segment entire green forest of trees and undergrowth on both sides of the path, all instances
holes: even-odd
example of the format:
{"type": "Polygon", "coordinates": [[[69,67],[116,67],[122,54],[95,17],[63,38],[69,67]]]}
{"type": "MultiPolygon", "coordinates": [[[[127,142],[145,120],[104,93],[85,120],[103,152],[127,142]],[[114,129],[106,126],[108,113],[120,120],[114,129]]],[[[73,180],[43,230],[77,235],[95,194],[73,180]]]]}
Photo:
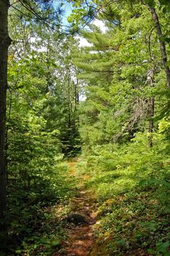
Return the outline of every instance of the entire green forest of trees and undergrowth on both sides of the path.
{"type": "Polygon", "coordinates": [[[69,23],[62,1],[10,4],[0,255],[61,248],[54,215],[69,211],[77,157],[97,197],[98,255],[168,256],[169,1],[68,1],[69,23]]]}

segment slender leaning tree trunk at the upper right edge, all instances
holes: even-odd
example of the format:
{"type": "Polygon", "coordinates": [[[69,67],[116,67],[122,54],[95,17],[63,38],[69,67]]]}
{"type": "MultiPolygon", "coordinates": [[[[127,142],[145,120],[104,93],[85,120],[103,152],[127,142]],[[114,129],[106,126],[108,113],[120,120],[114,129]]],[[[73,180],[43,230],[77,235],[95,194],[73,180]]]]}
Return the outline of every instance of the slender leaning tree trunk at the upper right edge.
{"type": "Polygon", "coordinates": [[[167,61],[166,44],[163,41],[161,25],[160,25],[158,14],[157,14],[155,8],[149,6],[149,10],[152,14],[152,20],[155,23],[155,29],[158,34],[158,39],[159,39],[160,48],[161,48],[162,63],[163,63],[163,67],[166,72],[166,82],[167,82],[167,86],[170,88],[170,69],[169,69],[169,65],[168,65],[168,61],[167,61]]]}

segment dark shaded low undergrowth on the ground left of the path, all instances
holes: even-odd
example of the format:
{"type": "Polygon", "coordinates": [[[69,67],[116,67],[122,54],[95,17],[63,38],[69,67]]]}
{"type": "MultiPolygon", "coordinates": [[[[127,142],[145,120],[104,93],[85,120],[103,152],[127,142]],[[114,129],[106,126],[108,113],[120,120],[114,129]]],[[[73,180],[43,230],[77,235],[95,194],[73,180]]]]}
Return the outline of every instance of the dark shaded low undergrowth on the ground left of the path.
{"type": "Polygon", "coordinates": [[[1,256],[53,255],[66,238],[61,219],[69,212],[74,181],[62,161],[52,176],[39,180],[28,190],[16,184],[10,193],[8,244],[1,244],[1,256]],[[62,214],[61,214],[62,213],[62,214]]]}

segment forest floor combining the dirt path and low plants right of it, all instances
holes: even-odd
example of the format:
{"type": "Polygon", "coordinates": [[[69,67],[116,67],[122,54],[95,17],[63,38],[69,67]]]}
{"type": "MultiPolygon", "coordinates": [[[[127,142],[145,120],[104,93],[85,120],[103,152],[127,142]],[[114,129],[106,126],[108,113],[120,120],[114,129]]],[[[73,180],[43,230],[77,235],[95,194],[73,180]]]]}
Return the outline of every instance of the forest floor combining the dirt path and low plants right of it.
{"type": "Polygon", "coordinates": [[[88,169],[83,159],[66,164],[72,193],[55,207],[61,238],[53,256],[169,255],[169,211],[158,187],[139,186],[146,173],[101,171],[96,162],[88,169]]]}

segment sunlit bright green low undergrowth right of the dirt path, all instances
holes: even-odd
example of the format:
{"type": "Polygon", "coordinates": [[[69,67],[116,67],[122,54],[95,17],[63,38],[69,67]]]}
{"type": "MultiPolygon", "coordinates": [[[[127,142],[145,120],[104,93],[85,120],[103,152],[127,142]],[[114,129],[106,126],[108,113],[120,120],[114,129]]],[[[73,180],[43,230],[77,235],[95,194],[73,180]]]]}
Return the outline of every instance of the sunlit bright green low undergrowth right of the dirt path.
{"type": "Polygon", "coordinates": [[[153,141],[139,134],[124,146],[95,146],[79,164],[98,197],[94,232],[105,255],[170,255],[169,150],[161,135],[153,141]]]}

